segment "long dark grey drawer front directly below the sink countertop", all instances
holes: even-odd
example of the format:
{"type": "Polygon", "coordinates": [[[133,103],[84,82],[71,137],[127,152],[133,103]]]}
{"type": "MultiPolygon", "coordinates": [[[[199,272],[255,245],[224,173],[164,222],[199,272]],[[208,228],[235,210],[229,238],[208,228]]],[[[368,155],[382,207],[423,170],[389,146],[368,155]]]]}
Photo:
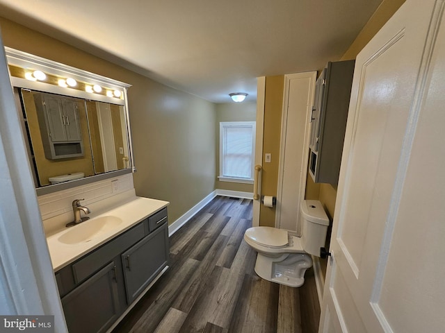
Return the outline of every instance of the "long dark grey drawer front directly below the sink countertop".
{"type": "Polygon", "coordinates": [[[127,232],[124,232],[124,234],[97,248],[97,250],[88,256],[80,259],[72,265],[74,282],[76,284],[82,282],[99,268],[102,268],[102,266],[110,262],[114,257],[120,255],[123,250],[126,250],[140,239],[143,239],[143,237],[144,224],[139,223],[127,232]]]}

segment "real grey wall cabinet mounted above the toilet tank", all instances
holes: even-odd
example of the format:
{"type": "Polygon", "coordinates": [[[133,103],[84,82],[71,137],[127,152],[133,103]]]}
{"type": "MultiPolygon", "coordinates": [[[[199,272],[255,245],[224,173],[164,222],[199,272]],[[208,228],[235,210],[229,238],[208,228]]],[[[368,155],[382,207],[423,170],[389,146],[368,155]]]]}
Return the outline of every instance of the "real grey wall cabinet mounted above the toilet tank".
{"type": "Polygon", "coordinates": [[[355,60],[328,62],[316,81],[309,142],[314,182],[337,186],[355,60]]]}

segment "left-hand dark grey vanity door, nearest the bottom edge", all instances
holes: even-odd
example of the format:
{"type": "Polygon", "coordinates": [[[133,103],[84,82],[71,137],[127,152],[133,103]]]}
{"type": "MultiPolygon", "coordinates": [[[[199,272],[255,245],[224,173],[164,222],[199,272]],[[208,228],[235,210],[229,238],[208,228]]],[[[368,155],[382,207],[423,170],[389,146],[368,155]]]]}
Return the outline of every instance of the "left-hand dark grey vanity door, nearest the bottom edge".
{"type": "Polygon", "coordinates": [[[62,298],[70,333],[99,333],[120,316],[116,266],[111,262],[62,298]]]}

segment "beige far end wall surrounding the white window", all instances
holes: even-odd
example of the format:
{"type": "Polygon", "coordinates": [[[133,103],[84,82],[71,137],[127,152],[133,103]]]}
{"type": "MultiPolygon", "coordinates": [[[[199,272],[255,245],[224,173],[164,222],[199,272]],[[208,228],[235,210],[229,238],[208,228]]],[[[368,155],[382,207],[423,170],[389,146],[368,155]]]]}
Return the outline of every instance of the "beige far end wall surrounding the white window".
{"type": "MultiPolygon", "coordinates": [[[[244,101],[243,103],[218,103],[216,104],[216,176],[220,172],[220,122],[221,121],[255,121],[257,117],[257,102],[244,101]]],[[[253,193],[253,184],[241,184],[238,182],[220,182],[215,180],[216,189],[229,191],[241,191],[253,193]]]]}

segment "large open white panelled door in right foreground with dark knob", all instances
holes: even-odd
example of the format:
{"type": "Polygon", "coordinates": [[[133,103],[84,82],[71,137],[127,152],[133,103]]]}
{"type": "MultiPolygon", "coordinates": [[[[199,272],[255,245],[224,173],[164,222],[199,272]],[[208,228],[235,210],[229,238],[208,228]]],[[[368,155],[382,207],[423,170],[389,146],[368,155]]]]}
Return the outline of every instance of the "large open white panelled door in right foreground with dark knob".
{"type": "Polygon", "coordinates": [[[357,57],[319,332],[445,331],[444,22],[407,0],[357,57]]]}

